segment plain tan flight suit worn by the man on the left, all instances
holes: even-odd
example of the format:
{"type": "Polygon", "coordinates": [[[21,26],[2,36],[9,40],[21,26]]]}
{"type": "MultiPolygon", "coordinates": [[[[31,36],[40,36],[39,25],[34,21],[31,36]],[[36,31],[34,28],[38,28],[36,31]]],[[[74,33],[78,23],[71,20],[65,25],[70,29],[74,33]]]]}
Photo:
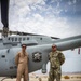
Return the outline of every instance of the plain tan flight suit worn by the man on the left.
{"type": "Polygon", "coordinates": [[[22,75],[24,77],[24,81],[28,81],[28,54],[26,52],[19,52],[15,57],[15,63],[17,65],[16,81],[21,81],[22,75]]]}

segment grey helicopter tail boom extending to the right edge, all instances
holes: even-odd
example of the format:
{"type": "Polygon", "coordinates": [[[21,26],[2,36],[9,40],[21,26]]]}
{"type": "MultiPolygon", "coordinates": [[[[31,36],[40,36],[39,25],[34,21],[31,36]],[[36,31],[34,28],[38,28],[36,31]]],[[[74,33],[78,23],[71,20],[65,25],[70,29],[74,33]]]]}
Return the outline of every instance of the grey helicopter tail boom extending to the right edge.
{"type": "Polygon", "coordinates": [[[56,44],[57,49],[60,51],[80,48],[81,46],[81,36],[59,39],[53,43],[56,44]]]}

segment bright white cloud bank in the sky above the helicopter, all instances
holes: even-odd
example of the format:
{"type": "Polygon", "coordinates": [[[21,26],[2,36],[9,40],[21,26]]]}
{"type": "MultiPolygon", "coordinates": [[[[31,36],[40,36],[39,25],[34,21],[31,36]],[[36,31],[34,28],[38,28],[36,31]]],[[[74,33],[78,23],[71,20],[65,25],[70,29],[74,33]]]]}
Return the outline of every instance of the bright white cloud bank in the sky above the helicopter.
{"type": "MultiPolygon", "coordinates": [[[[42,6],[41,9],[43,10],[42,6]]],[[[44,9],[44,11],[49,13],[50,9],[52,8],[49,8],[48,10],[44,9]]],[[[27,31],[27,32],[41,33],[41,35],[48,35],[48,36],[55,35],[56,37],[60,37],[59,35],[62,33],[62,31],[65,31],[65,29],[68,28],[68,25],[65,18],[55,17],[51,13],[50,15],[48,14],[46,16],[43,16],[39,14],[38,12],[30,14],[31,16],[27,16],[27,14],[30,12],[31,10],[28,5],[24,5],[23,8],[16,9],[16,11],[14,11],[14,14],[12,13],[13,16],[11,14],[12,17],[10,18],[10,27],[11,27],[10,29],[11,30],[16,29],[16,30],[25,31],[25,32],[27,31]],[[58,30],[59,28],[60,28],[60,31],[58,30]],[[56,33],[56,31],[59,31],[59,32],[56,33]]]]}

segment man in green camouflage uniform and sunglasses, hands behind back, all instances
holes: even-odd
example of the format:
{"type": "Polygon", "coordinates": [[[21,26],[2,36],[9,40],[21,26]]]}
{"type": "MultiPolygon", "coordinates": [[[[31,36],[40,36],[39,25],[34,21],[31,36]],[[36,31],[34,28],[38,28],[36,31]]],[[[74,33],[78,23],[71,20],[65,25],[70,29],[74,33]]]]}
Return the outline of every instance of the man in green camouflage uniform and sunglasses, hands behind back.
{"type": "Polygon", "coordinates": [[[60,51],[57,51],[56,45],[52,45],[52,52],[49,53],[50,58],[50,72],[49,81],[60,81],[62,69],[60,66],[65,62],[65,56],[60,51]]]}

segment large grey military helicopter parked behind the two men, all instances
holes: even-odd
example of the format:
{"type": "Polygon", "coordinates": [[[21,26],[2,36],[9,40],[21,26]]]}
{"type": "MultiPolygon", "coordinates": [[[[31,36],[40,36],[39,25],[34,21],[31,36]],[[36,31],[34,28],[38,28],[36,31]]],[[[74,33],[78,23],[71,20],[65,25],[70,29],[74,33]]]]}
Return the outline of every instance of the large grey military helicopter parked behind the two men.
{"type": "Polygon", "coordinates": [[[15,65],[15,56],[21,51],[21,45],[27,45],[26,51],[29,55],[29,73],[42,69],[42,73],[46,72],[46,64],[49,62],[49,52],[52,44],[56,44],[57,50],[66,51],[81,46],[81,35],[59,39],[56,37],[48,37],[43,35],[33,35],[19,31],[9,31],[8,11],[9,0],[0,0],[1,2],[1,22],[3,30],[0,30],[0,77],[15,78],[17,67],[15,65]],[[6,1],[6,2],[5,2],[6,1]],[[3,11],[6,9],[5,11],[3,11]],[[17,36],[8,36],[8,35],[17,36]]]}

